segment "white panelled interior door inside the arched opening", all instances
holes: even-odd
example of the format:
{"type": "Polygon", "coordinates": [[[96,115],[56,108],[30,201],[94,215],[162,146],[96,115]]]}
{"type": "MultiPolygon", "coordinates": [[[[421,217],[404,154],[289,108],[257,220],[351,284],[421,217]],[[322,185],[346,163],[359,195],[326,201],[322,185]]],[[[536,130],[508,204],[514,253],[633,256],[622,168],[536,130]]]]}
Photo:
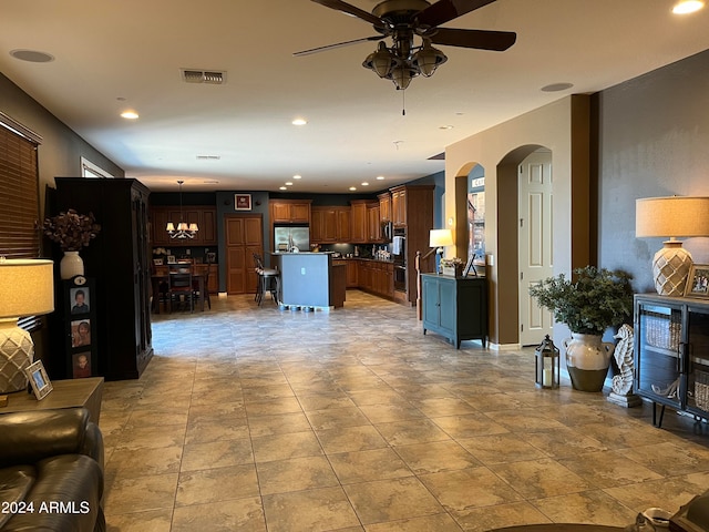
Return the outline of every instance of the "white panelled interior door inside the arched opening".
{"type": "Polygon", "coordinates": [[[518,175],[520,344],[530,346],[551,335],[554,324],[552,314],[530,296],[530,286],[554,275],[552,153],[532,153],[520,164],[518,175]]]}

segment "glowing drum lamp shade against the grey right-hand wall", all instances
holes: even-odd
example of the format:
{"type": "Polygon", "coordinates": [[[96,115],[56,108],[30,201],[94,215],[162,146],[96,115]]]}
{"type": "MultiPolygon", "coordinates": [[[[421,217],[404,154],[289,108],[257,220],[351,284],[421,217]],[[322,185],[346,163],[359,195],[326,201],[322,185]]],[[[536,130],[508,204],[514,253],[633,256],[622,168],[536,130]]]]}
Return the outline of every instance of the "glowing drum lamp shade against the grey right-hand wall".
{"type": "Polygon", "coordinates": [[[709,236],[709,196],[636,200],[635,236],[709,236]]]}

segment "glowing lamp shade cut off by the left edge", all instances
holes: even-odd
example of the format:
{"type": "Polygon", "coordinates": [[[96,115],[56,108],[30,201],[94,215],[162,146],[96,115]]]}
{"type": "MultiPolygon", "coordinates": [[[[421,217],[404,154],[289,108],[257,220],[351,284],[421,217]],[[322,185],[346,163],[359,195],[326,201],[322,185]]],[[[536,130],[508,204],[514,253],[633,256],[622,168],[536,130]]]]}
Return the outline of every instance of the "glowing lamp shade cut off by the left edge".
{"type": "Polygon", "coordinates": [[[0,258],[0,318],[54,310],[53,264],[44,259],[0,258]]]}

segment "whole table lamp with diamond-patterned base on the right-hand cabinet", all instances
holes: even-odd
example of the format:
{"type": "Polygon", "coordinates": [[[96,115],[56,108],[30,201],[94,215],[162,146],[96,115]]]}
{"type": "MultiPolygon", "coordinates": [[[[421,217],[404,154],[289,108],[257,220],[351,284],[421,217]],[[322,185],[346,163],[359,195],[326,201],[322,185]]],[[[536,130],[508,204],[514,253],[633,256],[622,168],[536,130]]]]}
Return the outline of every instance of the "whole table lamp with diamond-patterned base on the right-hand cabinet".
{"type": "Polygon", "coordinates": [[[636,237],[669,237],[653,258],[655,289],[664,296],[685,294],[691,254],[678,236],[709,236],[709,197],[646,197],[635,203],[636,237]]]}

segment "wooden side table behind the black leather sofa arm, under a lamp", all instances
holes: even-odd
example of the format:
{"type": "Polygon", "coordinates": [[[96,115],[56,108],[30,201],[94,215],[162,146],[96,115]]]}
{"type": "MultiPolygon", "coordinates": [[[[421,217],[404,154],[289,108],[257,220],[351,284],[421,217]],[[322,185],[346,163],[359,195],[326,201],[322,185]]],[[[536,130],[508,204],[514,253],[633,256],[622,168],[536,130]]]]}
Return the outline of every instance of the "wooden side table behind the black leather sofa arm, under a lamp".
{"type": "Polygon", "coordinates": [[[8,406],[0,407],[0,415],[29,410],[53,410],[58,408],[85,407],[90,419],[99,424],[103,377],[85,379],[52,380],[53,390],[41,401],[33,393],[18,391],[8,396],[8,406]]]}

